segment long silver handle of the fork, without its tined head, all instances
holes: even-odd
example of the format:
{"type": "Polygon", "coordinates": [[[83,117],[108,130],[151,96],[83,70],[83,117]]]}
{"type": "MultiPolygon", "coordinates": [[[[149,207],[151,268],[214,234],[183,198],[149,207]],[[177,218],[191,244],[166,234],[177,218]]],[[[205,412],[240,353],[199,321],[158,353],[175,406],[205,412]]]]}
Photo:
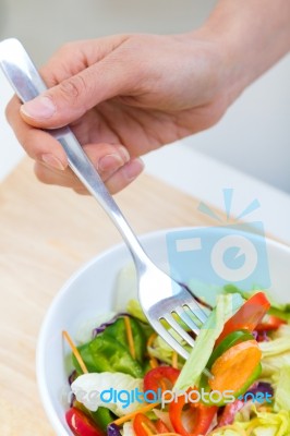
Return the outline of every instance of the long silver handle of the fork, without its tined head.
{"type": "MultiPolygon", "coordinates": [[[[10,38],[0,43],[0,65],[19,98],[25,102],[47,89],[45,82],[22,44],[10,38]]],[[[119,206],[69,126],[47,131],[63,147],[72,171],[98,201],[122,234],[137,268],[150,262],[119,206]]]]}

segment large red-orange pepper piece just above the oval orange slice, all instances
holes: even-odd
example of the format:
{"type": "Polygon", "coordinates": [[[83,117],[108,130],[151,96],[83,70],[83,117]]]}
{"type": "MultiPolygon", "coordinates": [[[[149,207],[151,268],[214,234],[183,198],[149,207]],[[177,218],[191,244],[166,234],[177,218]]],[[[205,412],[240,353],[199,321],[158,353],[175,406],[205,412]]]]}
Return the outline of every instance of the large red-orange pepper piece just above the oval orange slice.
{"type": "Polygon", "coordinates": [[[261,323],[266,312],[269,310],[270,303],[267,300],[264,292],[257,292],[252,295],[239,311],[227,320],[223,326],[219,338],[216,341],[216,346],[220,341],[234,330],[249,330],[253,331],[256,326],[261,323]]]}

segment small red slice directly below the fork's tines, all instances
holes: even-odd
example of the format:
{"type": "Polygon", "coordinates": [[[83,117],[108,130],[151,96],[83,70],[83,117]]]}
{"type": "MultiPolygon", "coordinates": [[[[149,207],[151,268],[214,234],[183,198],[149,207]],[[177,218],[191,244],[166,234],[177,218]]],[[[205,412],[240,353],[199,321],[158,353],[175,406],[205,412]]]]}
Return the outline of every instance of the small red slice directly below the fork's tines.
{"type": "Polygon", "coordinates": [[[144,377],[144,392],[148,392],[146,398],[149,401],[157,400],[154,398],[154,392],[158,395],[158,389],[164,392],[167,389],[172,389],[174,383],[180,375],[180,370],[172,366],[157,366],[147,372],[144,377]],[[149,392],[154,391],[154,392],[149,392]]]}

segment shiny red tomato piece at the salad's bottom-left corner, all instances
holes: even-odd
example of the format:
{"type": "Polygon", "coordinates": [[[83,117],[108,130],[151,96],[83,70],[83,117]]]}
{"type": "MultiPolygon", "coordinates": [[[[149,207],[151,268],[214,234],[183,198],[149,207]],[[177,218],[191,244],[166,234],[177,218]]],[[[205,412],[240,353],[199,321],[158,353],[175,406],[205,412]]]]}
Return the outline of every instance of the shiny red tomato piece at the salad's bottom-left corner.
{"type": "Polygon", "coordinates": [[[80,409],[71,408],[65,413],[65,420],[75,436],[104,436],[94,422],[80,409]]]}

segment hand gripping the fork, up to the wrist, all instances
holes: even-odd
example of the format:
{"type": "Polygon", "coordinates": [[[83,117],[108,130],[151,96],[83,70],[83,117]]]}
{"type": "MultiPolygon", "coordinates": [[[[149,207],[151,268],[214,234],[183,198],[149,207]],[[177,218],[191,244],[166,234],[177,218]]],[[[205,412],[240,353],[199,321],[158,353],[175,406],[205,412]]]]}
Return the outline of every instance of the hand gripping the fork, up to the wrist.
{"type": "Polygon", "coordinates": [[[138,156],[220,119],[232,98],[225,62],[198,32],[69,44],[40,70],[50,89],[23,106],[14,97],[8,120],[40,181],[85,191],[60,144],[40,130],[70,124],[116,193],[142,171],[138,156]]]}

